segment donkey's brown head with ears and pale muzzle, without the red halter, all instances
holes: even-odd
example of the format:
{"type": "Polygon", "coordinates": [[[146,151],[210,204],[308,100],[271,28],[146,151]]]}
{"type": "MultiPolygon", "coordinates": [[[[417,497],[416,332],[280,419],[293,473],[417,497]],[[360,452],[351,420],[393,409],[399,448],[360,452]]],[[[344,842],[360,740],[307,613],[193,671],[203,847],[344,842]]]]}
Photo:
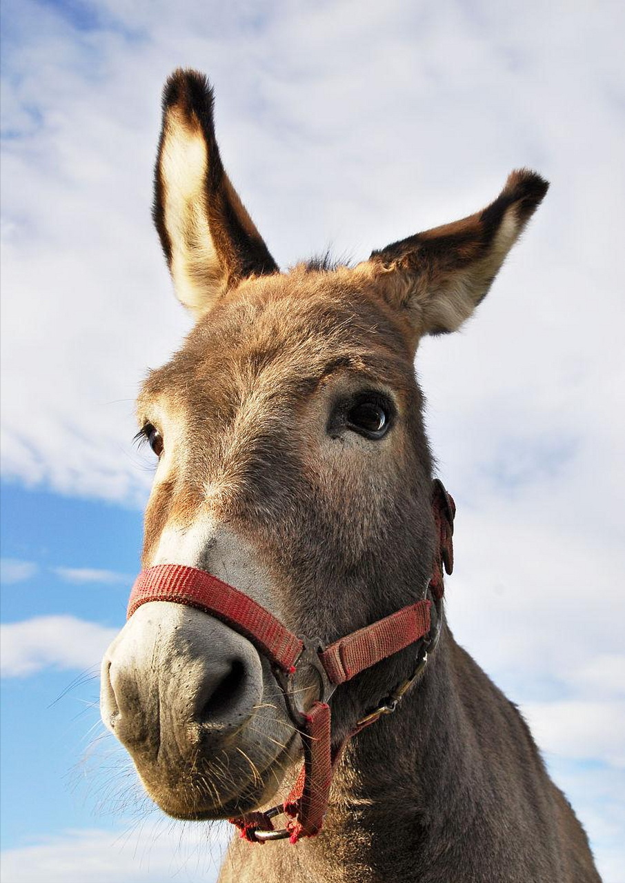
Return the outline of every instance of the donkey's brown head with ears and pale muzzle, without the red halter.
{"type": "MultiPolygon", "coordinates": [[[[353,268],[282,274],[223,170],[207,80],[176,72],[154,221],[197,323],[139,395],[158,457],[144,567],[207,570],[323,642],[423,598],[435,528],[418,340],[471,315],[546,187],[515,171],[476,215],[353,268]]],[[[400,653],[339,688],[333,738],[412,661],[400,653]]],[[[258,807],[300,751],[267,660],[163,601],[110,645],[102,717],[149,794],[185,819],[258,807]]]]}

